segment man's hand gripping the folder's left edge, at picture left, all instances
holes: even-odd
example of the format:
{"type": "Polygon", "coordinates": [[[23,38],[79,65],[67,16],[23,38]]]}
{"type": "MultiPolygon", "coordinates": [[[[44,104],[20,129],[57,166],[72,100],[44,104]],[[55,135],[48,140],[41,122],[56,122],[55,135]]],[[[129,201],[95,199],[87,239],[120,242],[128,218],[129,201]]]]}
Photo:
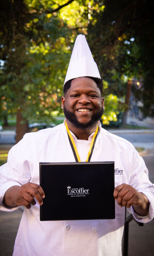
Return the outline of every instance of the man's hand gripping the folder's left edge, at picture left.
{"type": "Polygon", "coordinates": [[[40,185],[28,182],[22,186],[10,187],[5,193],[3,204],[9,207],[23,205],[30,209],[31,205],[36,204],[34,197],[39,205],[42,205],[42,198],[45,198],[44,191],[40,185]]]}

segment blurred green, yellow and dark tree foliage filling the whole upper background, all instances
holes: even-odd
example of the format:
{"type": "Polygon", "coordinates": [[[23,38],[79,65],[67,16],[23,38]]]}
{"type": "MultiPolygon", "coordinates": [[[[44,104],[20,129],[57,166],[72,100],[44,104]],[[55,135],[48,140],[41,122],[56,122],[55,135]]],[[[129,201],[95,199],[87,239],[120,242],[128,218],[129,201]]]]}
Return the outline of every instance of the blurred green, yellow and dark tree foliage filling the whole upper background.
{"type": "Polygon", "coordinates": [[[0,16],[0,118],[20,109],[29,121],[50,122],[53,111],[61,113],[78,34],[85,34],[104,80],[103,122],[115,121],[123,111],[133,77],[142,80],[134,93],[152,115],[153,2],[147,2],[6,0],[0,16]]]}

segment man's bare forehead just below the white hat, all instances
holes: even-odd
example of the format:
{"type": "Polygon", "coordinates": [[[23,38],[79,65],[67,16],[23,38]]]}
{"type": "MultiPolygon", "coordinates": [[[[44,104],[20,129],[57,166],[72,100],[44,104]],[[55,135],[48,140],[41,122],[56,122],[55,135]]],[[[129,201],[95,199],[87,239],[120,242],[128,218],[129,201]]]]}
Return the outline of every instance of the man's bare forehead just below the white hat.
{"type": "Polygon", "coordinates": [[[92,90],[100,93],[96,82],[89,77],[78,77],[72,80],[69,92],[74,90],[92,90]]]}

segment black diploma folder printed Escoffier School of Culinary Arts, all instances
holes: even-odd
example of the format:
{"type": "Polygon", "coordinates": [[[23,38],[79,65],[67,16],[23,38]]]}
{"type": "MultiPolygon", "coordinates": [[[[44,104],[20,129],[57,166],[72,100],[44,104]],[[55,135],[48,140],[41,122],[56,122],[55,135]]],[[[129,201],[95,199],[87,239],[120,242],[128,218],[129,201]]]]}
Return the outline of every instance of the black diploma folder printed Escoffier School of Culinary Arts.
{"type": "Polygon", "coordinates": [[[41,221],[115,219],[114,162],[39,165],[41,221]]]}

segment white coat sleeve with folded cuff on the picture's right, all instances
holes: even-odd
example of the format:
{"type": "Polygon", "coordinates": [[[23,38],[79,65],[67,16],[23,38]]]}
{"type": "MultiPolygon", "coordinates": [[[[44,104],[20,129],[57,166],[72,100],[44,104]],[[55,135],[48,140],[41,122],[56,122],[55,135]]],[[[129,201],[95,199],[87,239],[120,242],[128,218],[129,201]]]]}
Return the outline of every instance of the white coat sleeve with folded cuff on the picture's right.
{"type": "Polygon", "coordinates": [[[149,215],[145,217],[136,214],[133,206],[127,208],[127,210],[132,213],[134,218],[139,222],[146,223],[151,221],[154,217],[154,184],[150,182],[145,162],[136,150],[133,153],[129,185],[138,190],[138,192],[143,193],[148,198],[150,206],[149,215]]]}

